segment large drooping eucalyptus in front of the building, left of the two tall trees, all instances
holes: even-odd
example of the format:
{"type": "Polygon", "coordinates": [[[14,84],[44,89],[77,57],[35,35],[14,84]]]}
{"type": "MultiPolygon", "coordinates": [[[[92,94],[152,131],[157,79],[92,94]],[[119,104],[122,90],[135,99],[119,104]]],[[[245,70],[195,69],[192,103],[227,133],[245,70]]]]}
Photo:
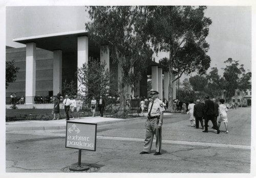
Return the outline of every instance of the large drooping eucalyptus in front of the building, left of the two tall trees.
{"type": "Polygon", "coordinates": [[[123,114],[123,100],[129,86],[141,79],[142,73],[152,60],[153,50],[144,32],[147,15],[139,6],[91,6],[86,23],[90,38],[97,45],[108,45],[110,58],[121,69],[120,108],[123,114]],[[136,72],[134,72],[136,71],[136,72]]]}

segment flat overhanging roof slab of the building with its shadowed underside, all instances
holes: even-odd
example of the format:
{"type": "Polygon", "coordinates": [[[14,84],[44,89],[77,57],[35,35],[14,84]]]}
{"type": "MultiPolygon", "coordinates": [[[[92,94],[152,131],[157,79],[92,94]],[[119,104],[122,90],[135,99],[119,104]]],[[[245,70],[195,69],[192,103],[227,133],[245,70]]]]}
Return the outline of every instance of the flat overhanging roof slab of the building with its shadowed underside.
{"type": "MultiPolygon", "coordinates": [[[[61,32],[46,35],[14,38],[13,41],[27,44],[34,42],[36,47],[46,50],[62,50],[62,53],[77,53],[77,37],[88,36],[86,30],[61,32]]],[[[100,47],[96,46],[93,41],[88,39],[89,49],[93,52],[99,52],[100,47]]]]}

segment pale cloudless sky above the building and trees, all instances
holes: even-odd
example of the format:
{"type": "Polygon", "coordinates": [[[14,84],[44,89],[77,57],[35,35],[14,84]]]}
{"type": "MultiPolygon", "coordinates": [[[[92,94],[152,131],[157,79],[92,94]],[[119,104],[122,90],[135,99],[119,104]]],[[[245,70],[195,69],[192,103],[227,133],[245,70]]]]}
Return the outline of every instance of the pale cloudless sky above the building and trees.
{"type": "MultiPolygon", "coordinates": [[[[88,21],[86,9],[84,6],[7,7],[6,45],[25,47],[12,39],[83,30],[84,22],[88,21]]],[[[210,44],[210,68],[217,67],[220,75],[228,58],[239,61],[251,71],[251,12],[249,6],[208,6],[205,11],[205,16],[212,20],[206,38],[210,44]]],[[[154,57],[158,61],[168,57],[168,53],[154,57]]],[[[183,78],[189,77],[183,75],[183,78]]]]}

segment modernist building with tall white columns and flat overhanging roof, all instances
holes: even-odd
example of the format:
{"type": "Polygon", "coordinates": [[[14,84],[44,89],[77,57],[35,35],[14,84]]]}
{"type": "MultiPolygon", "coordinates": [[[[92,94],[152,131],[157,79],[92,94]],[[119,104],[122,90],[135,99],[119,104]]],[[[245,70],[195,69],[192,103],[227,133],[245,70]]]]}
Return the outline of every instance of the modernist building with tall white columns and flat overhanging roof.
{"type": "MultiPolygon", "coordinates": [[[[85,30],[15,38],[13,41],[23,43],[26,47],[6,49],[6,60],[14,59],[15,64],[20,67],[17,80],[10,84],[6,90],[6,96],[10,96],[12,92],[16,92],[19,96],[56,95],[61,93],[62,83],[65,80],[77,81],[79,86],[74,73],[77,68],[82,67],[82,64],[88,63],[89,57],[106,62],[105,68],[113,73],[110,82],[114,85],[110,90],[118,88],[118,80],[121,78],[119,65],[113,63],[110,58],[108,46],[95,46],[85,30]],[[104,47],[107,50],[103,50],[104,47]]],[[[129,90],[127,94],[147,96],[147,75],[152,75],[152,88],[159,91],[159,98],[167,98],[168,71],[163,71],[153,61],[148,66],[147,73],[135,86],[135,91],[129,90]],[[162,86],[163,75],[164,87],[162,86]]],[[[174,84],[174,98],[176,98],[175,86],[174,84]]],[[[25,103],[31,104],[31,101],[27,100],[25,103]]]]}

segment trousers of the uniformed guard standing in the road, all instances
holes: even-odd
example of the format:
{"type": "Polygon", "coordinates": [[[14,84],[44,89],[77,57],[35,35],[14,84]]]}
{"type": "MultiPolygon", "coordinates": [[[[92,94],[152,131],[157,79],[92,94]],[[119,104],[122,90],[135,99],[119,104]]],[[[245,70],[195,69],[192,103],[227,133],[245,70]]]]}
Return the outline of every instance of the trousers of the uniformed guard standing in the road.
{"type": "Polygon", "coordinates": [[[162,147],[162,130],[158,128],[158,119],[147,119],[146,121],[146,137],[144,141],[143,151],[151,152],[154,135],[156,135],[156,152],[161,152],[162,147]]]}

